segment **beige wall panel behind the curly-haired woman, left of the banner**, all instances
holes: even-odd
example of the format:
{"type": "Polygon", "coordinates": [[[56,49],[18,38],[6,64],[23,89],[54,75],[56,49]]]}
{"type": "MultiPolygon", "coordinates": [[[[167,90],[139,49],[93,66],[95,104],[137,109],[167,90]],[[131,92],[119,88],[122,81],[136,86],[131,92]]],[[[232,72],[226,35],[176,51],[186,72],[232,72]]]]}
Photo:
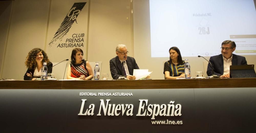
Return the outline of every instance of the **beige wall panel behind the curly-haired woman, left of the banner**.
{"type": "Polygon", "coordinates": [[[4,53],[2,77],[23,80],[27,53],[44,48],[50,0],[15,0],[4,53]]]}

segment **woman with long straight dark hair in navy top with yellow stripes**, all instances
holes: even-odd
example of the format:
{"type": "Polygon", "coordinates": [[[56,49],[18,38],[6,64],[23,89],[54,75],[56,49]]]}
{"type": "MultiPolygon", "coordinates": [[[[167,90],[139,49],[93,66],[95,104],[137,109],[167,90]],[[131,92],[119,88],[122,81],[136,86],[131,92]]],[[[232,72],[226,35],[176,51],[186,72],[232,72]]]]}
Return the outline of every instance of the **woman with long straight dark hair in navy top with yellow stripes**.
{"type": "Polygon", "coordinates": [[[180,51],[177,47],[169,49],[170,60],[164,63],[164,76],[165,79],[177,79],[185,77],[184,64],[180,51]]]}

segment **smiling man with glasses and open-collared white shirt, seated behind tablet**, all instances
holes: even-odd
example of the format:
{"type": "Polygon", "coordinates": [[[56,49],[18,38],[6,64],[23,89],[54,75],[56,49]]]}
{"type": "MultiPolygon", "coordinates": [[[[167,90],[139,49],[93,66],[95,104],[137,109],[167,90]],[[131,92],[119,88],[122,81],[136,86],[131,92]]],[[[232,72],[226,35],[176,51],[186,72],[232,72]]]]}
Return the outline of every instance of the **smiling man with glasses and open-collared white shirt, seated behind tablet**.
{"type": "MultiPolygon", "coordinates": [[[[236,50],[236,43],[231,40],[223,41],[221,44],[221,54],[210,57],[214,74],[220,77],[229,77],[230,65],[246,65],[245,57],[232,54],[236,50]]],[[[211,75],[211,65],[208,63],[207,75],[211,75]]]]}

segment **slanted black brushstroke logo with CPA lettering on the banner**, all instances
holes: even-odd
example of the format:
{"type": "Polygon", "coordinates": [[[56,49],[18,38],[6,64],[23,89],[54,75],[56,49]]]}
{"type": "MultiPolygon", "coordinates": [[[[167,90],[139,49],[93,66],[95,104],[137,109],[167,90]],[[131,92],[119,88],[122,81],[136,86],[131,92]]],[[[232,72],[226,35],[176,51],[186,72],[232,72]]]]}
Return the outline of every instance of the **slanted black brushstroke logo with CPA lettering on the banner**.
{"type": "Polygon", "coordinates": [[[81,12],[81,10],[83,9],[85,4],[86,4],[86,2],[74,3],[73,4],[73,6],[69,10],[67,16],[62,21],[59,29],[56,31],[54,37],[52,38],[52,40],[48,44],[49,47],[51,47],[53,42],[55,42],[57,40],[62,41],[62,38],[68,33],[68,31],[71,28],[71,26],[73,25],[74,21],[76,21],[76,23],[77,23],[76,19],[77,19],[79,13],[81,12]]]}

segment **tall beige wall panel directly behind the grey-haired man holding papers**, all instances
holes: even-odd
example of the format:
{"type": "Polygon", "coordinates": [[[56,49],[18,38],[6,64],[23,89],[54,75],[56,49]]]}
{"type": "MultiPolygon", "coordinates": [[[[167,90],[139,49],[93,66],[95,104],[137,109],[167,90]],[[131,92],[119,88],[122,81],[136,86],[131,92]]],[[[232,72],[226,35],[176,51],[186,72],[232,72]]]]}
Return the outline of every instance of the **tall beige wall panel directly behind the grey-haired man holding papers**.
{"type": "Polygon", "coordinates": [[[130,0],[91,1],[88,61],[102,61],[101,72],[108,73],[109,79],[109,61],[116,56],[116,46],[125,44],[129,56],[133,53],[130,16],[130,0]]]}

